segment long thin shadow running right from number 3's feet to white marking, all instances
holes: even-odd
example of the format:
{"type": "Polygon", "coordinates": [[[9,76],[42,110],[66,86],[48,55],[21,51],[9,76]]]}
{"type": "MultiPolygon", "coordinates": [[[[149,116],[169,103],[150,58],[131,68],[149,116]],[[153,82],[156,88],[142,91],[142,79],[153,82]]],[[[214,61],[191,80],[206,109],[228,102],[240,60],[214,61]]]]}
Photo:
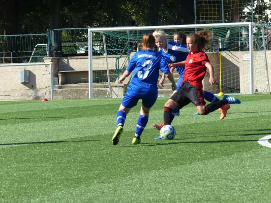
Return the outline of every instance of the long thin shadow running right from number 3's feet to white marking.
{"type": "MultiPolygon", "coordinates": [[[[174,143],[141,143],[140,145],[135,145],[136,147],[151,147],[159,145],[176,145],[176,144],[202,144],[202,143],[239,143],[239,142],[256,142],[257,140],[223,140],[223,141],[199,141],[199,142],[174,142],[174,143]]],[[[163,141],[162,141],[163,142],[163,141]]],[[[124,146],[124,147],[135,147],[133,146],[124,146]]]]}

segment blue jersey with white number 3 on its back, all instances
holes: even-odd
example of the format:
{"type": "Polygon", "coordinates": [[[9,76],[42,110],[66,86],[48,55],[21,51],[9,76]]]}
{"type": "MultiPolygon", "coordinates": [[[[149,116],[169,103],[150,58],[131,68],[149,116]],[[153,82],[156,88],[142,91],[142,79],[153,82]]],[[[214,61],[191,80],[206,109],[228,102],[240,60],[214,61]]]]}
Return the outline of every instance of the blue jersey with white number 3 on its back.
{"type": "Polygon", "coordinates": [[[158,92],[159,70],[163,73],[170,71],[162,54],[149,49],[136,52],[127,67],[127,71],[134,71],[127,94],[143,96],[149,92],[158,92]]]}

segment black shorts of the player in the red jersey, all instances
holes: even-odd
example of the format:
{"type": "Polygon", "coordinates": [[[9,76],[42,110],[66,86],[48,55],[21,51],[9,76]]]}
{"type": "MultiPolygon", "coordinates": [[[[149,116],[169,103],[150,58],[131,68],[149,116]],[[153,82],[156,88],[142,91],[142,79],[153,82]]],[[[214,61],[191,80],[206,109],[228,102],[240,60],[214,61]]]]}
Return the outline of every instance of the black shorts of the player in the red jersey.
{"type": "Polygon", "coordinates": [[[176,91],[170,98],[179,105],[179,109],[182,109],[191,102],[196,107],[205,105],[203,91],[198,90],[188,81],[185,81],[178,91],[176,91]]]}

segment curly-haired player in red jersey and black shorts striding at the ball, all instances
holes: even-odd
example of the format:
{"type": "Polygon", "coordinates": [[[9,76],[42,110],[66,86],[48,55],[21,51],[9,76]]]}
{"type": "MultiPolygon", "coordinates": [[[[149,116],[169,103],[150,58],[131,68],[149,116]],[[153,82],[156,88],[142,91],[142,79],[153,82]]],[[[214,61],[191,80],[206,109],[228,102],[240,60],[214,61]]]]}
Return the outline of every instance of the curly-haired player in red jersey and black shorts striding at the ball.
{"type": "Polygon", "coordinates": [[[185,62],[185,73],[182,85],[178,91],[174,93],[166,102],[164,107],[164,124],[168,125],[172,122],[172,111],[176,107],[182,109],[189,103],[193,103],[200,115],[207,115],[219,108],[227,114],[230,108],[229,104],[240,104],[240,101],[234,97],[224,96],[223,100],[213,102],[205,106],[202,80],[209,71],[209,83],[214,85],[214,67],[210,64],[208,56],[201,49],[209,42],[209,33],[206,30],[198,33],[191,33],[187,36],[187,47],[190,53],[185,62]]]}

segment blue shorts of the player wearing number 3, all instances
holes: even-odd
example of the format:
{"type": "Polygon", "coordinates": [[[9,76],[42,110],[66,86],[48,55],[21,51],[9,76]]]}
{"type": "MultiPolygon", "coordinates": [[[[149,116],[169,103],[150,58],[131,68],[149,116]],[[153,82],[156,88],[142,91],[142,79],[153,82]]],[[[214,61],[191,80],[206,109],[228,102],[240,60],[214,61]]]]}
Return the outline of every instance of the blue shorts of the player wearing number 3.
{"type": "Polygon", "coordinates": [[[148,93],[147,95],[144,96],[132,96],[126,93],[123,98],[122,105],[126,108],[133,108],[137,105],[138,100],[142,99],[142,105],[149,109],[152,106],[154,106],[157,97],[158,97],[157,92],[148,93]]]}

